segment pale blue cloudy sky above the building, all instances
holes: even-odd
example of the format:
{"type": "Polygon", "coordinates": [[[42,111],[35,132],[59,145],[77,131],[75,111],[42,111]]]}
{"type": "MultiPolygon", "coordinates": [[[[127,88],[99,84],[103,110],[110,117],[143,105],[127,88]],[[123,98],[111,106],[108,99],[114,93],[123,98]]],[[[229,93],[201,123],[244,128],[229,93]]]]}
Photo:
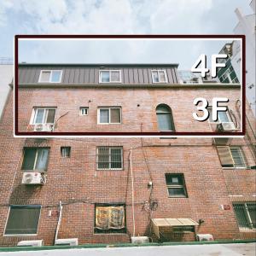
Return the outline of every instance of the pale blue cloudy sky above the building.
{"type": "MultiPolygon", "coordinates": [[[[235,9],[250,0],[1,0],[0,57],[13,57],[15,34],[233,34],[235,9]]],[[[19,61],[179,63],[189,69],[226,41],[23,41],[19,61]]],[[[209,57],[208,57],[209,58],[209,57]]],[[[210,62],[210,60],[209,60],[210,62]]]]}

